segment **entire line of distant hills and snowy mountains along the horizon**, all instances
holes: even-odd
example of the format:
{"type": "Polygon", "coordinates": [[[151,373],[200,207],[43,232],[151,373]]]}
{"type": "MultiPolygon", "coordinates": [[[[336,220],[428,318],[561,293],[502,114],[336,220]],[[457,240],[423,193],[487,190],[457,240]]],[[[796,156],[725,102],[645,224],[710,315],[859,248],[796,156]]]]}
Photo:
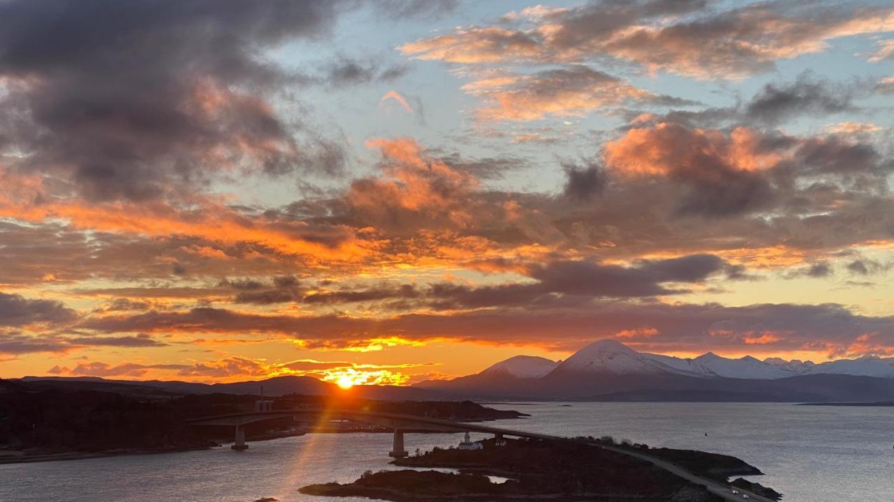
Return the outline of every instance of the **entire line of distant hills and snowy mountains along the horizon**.
{"type": "MultiPolygon", "coordinates": [[[[80,389],[127,393],[343,394],[307,376],[263,381],[197,383],[120,381],[97,377],[24,377],[80,389]]],[[[814,364],[810,361],[694,358],[645,354],[613,339],[596,341],[564,361],[514,356],[482,372],[411,387],[354,386],[353,397],[384,400],[539,399],[587,401],[873,402],[894,401],[894,358],[873,356],[814,364]]]]}

